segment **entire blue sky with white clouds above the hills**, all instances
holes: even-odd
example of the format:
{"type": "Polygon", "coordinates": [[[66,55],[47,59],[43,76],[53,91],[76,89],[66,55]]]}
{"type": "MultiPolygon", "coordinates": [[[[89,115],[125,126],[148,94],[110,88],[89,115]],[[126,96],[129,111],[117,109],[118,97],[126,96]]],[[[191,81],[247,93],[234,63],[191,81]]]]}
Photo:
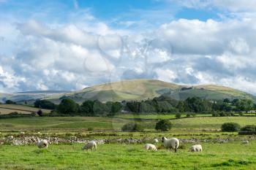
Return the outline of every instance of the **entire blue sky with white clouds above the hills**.
{"type": "Polygon", "coordinates": [[[256,95],[255,0],[0,0],[0,92],[129,79],[256,95]]]}

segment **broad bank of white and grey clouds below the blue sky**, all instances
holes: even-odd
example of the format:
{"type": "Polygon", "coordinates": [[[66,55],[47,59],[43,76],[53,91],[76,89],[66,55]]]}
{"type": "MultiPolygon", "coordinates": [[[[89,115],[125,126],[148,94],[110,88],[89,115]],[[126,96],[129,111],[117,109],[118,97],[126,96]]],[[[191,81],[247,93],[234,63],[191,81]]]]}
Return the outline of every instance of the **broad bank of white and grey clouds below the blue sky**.
{"type": "Polygon", "coordinates": [[[256,94],[255,29],[253,18],[179,19],[144,32],[116,30],[102,21],[0,24],[8,33],[3,34],[8,43],[0,46],[0,90],[80,90],[154,78],[256,94]]]}

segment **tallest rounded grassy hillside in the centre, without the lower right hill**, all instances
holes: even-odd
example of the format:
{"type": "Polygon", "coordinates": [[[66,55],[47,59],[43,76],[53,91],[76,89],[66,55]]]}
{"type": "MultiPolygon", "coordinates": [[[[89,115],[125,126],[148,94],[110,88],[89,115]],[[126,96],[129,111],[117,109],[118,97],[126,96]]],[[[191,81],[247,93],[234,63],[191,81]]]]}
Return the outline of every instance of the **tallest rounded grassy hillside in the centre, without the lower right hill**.
{"type": "MultiPolygon", "coordinates": [[[[143,100],[181,87],[181,85],[159,80],[126,80],[95,85],[75,93],[67,93],[65,96],[77,102],[83,102],[86,99],[98,99],[99,101],[143,100]]],[[[59,101],[57,98],[50,99],[59,101]]]]}

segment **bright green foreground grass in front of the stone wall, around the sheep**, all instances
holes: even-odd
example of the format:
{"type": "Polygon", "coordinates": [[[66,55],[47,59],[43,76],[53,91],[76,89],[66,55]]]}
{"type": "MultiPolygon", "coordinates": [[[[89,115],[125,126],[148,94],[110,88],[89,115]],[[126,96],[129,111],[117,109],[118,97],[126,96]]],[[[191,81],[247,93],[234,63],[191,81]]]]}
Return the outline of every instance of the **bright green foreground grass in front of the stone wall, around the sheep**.
{"type": "Polygon", "coordinates": [[[0,146],[0,169],[255,169],[255,142],[241,150],[240,142],[203,143],[203,153],[146,151],[143,144],[102,144],[96,152],[83,144],[0,146]]]}

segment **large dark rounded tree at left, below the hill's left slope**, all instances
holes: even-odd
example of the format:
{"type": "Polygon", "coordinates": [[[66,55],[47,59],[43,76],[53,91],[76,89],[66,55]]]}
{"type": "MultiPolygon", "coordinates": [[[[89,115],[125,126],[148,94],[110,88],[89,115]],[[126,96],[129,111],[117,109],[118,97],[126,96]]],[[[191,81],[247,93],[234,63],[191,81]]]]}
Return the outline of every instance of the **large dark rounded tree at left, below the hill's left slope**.
{"type": "Polygon", "coordinates": [[[57,110],[64,115],[73,115],[78,112],[78,104],[76,104],[75,101],[72,101],[72,99],[63,99],[57,107],[57,110]]]}

